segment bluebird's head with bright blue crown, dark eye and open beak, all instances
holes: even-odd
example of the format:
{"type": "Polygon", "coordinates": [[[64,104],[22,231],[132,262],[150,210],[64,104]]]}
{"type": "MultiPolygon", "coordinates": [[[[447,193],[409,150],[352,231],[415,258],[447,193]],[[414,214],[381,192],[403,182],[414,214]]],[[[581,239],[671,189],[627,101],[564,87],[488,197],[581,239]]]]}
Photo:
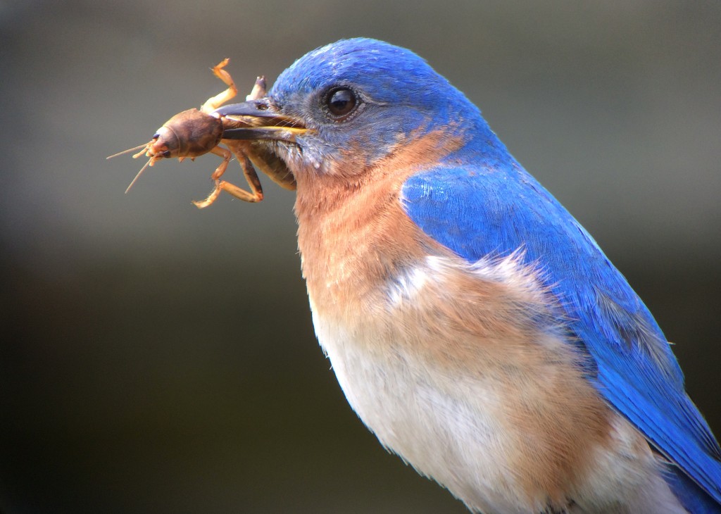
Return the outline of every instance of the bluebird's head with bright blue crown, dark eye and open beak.
{"type": "Polygon", "coordinates": [[[293,174],[356,174],[435,130],[500,145],[478,108],[423,58],[367,38],[313,50],[280,74],[267,98],[216,112],[265,120],[223,137],[265,141],[293,174]]]}

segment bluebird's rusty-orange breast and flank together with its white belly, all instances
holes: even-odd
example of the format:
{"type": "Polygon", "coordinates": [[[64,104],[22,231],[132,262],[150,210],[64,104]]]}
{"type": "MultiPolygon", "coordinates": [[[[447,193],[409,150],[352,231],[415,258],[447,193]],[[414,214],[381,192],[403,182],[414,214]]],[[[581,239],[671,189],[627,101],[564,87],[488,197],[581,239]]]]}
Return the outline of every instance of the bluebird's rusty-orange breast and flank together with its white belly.
{"type": "Polygon", "coordinates": [[[466,505],[562,504],[603,406],[542,322],[535,279],[513,260],[471,269],[410,221],[398,187],[373,185],[331,211],[314,199],[335,192],[304,203],[298,182],[314,327],[348,402],[384,446],[466,505]],[[594,427],[589,438],[579,423],[594,427]]]}

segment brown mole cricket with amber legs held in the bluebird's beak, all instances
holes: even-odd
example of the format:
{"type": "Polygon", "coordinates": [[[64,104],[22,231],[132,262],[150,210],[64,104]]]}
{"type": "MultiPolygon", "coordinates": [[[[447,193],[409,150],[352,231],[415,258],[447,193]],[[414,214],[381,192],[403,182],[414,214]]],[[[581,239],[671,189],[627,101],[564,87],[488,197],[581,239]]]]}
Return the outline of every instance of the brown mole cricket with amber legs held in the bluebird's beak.
{"type": "MultiPolygon", "coordinates": [[[[222,191],[228,192],[235,198],[239,198],[239,200],[260,202],[263,199],[263,191],[260,185],[260,179],[253,167],[254,164],[281,187],[290,190],[296,188],[296,181],[293,174],[287,169],[283,161],[280,161],[280,159],[273,156],[273,154],[267,152],[262,146],[258,146],[257,143],[253,141],[223,138],[225,130],[252,128],[258,124],[257,120],[254,120],[254,118],[250,116],[229,117],[213,112],[234,98],[238,92],[232,77],[224,69],[228,62],[229,59],[226,58],[212,68],[213,74],[215,74],[218,79],[224,81],[228,86],[227,89],[206,100],[205,103],[200,106],[200,110],[193,108],[174,115],[167,120],[167,122],[163,123],[161,128],[156,130],[156,133],[148,143],[107,157],[107,159],[111,159],[112,157],[128,154],[138,149],[140,149],[140,151],[133,155],[133,159],[137,159],[142,155],[149,157],[146,164],[128,186],[128,189],[125,190],[126,193],[133,187],[133,184],[135,184],[147,167],[154,166],[156,161],[173,157],[177,157],[181,162],[187,158],[194,161],[196,157],[208,153],[220,156],[223,161],[218,165],[213,174],[211,174],[211,180],[215,182],[215,187],[210,195],[208,195],[208,198],[193,201],[193,205],[198,208],[205,208],[211,205],[216,201],[222,191]],[[225,147],[221,146],[221,144],[225,145],[225,147]],[[243,170],[250,191],[244,190],[225,180],[221,180],[233,155],[236,156],[243,170]]],[[[265,97],[266,92],[265,77],[259,76],[255,81],[252,92],[247,95],[246,100],[260,99],[265,97]]]]}

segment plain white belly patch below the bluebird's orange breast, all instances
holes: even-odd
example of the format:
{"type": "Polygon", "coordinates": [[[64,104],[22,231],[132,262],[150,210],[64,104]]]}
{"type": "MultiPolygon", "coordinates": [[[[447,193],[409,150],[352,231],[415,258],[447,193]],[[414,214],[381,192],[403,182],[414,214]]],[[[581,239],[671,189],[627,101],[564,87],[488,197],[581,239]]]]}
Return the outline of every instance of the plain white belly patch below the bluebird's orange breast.
{"type": "Polygon", "coordinates": [[[412,316],[365,315],[367,323],[348,327],[313,312],[319,343],[350,406],[386,448],[421,474],[471,505],[506,505],[503,498],[492,500],[496,484],[506,482],[503,463],[512,446],[504,440],[500,384],[492,377],[453,376],[418,355],[413,345],[432,342],[407,329],[417,322],[412,316]]]}

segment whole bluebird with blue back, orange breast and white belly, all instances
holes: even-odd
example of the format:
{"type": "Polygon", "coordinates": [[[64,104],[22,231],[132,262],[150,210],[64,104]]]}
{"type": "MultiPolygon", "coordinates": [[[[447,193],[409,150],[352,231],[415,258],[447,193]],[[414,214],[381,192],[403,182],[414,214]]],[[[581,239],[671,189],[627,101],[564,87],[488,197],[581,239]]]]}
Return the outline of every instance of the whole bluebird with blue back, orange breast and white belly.
{"type": "Polygon", "coordinates": [[[478,513],[721,512],[653,316],[422,58],[341,40],[216,112],[296,187],[318,340],[383,446],[478,513]]]}

